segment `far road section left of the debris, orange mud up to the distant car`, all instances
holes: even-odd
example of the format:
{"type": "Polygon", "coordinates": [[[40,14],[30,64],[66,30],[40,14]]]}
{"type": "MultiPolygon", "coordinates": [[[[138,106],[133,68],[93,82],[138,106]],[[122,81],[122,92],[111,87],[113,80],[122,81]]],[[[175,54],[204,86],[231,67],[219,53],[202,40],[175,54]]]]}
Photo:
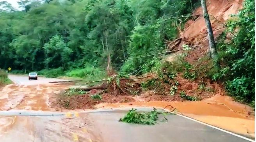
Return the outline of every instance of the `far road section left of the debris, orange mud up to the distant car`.
{"type": "Polygon", "coordinates": [[[13,84],[0,91],[0,110],[50,110],[49,95],[67,89],[67,86],[49,84],[63,79],[38,77],[38,80],[28,80],[28,76],[9,75],[13,84]]]}

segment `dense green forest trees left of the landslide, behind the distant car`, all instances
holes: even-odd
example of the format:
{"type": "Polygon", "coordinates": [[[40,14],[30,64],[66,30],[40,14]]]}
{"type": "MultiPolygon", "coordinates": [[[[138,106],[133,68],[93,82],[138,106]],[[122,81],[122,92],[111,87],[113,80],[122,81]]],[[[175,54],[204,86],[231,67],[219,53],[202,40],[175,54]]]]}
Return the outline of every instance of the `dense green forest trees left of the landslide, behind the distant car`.
{"type": "MultiPolygon", "coordinates": [[[[159,22],[192,12],[196,2],[20,0],[22,11],[1,2],[0,67],[104,67],[110,55],[112,65],[119,69],[124,63],[121,60],[129,56],[163,50],[164,39],[176,37],[177,19],[159,22]]],[[[132,64],[129,70],[134,70],[143,63],[136,60],[127,64],[132,64]]]]}

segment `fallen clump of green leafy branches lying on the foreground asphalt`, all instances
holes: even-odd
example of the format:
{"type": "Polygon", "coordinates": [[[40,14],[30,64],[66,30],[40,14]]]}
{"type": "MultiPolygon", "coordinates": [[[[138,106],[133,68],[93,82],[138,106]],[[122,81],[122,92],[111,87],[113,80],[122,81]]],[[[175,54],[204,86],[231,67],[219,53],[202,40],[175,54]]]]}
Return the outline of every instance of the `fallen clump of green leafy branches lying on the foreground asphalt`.
{"type": "MultiPolygon", "coordinates": [[[[167,106],[171,106],[171,105],[167,105],[167,106]]],[[[163,112],[160,112],[160,111],[157,111],[156,108],[153,108],[151,112],[138,112],[137,109],[132,108],[131,110],[129,110],[126,116],[120,118],[119,121],[132,123],[132,124],[155,125],[155,123],[157,123],[156,121],[158,120],[159,114],[167,114],[167,113],[174,112],[174,110],[176,110],[172,106],[171,108],[173,108],[173,110],[168,112],[164,112],[164,109],[163,109],[163,112]]],[[[164,117],[163,121],[167,121],[167,118],[164,117]]]]}

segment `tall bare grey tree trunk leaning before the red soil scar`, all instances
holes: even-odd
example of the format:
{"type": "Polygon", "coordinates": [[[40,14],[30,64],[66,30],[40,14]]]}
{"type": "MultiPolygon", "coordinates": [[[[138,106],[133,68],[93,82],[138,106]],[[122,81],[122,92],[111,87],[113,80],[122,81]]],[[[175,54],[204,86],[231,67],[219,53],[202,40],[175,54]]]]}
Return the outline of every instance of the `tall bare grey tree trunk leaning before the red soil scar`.
{"type": "Polygon", "coordinates": [[[207,11],[205,0],[201,0],[201,4],[202,4],[202,8],[203,8],[204,19],[205,19],[206,28],[207,28],[208,37],[209,37],[210,54],[211,54],[213,60],[216,60],[216,54],[217,54],[216,45],[215,45],[215,42],[214,42],[212,25],[211,25],[211,21],[210,21],[210,18],[209,18],[208,11],[207,11]]]}

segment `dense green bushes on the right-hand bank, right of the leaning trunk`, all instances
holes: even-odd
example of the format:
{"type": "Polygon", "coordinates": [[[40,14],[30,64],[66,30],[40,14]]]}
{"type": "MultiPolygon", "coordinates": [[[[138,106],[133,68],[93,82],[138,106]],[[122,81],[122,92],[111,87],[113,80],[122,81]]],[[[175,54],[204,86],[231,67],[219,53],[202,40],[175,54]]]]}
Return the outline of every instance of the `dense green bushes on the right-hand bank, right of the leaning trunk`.
{"type": "Polygon", "coordinates": [[[223,81],[226,91],[236,101],[249,103],[254,107],[255,100],[255,4],[254,0],[245,0],[243,9],[228,24],[218,40],[218,62],[221,67],[212,75],[214,81],[223,81]],[[230,37],[231,36],[231,37],[230,37]]]}

